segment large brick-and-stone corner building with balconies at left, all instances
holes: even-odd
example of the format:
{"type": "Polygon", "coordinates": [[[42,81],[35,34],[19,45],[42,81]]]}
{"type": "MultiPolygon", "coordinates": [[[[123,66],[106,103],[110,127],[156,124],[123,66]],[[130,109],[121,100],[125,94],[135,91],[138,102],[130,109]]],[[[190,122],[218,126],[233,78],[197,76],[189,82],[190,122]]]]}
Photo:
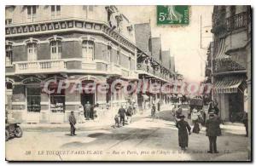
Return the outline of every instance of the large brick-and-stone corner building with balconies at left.
{"type": "Polygon", "coordinates": [[[118,84],[119,93],[72,90],[78,81],[85,90],[137,81],[134,28],[117,7],[6,6],[5,34],[6,106],[20,122],[65,123],[87,101],[106,117],[127,98],[137,100],[118,84]],[[60,83],[68,86],[59,90],[60,83]]]}

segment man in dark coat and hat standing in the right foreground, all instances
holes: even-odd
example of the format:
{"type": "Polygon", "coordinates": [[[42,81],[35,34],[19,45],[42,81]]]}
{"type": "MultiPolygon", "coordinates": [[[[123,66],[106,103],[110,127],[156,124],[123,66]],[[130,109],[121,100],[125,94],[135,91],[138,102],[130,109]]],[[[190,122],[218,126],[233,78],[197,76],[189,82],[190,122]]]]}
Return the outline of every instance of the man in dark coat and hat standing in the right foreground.
{"type": "Polygon", "coordinates": [[[217,151],[217,136],[221,135],[219,124],[221,123],[218,115],[215,112],[209,112],[209,119],[206,123],[207,136],[210,143],[210,151],[208,153],[218,153],[217,151]]]}

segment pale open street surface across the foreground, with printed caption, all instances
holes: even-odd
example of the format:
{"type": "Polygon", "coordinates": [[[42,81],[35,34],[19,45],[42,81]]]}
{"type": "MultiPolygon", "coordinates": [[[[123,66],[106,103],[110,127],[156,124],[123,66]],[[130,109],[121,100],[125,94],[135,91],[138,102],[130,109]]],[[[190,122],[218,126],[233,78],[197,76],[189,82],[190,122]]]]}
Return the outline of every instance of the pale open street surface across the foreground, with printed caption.
{"type": "Polygon", "coordinates": [[[218,154],[207,153],[205,128],[199,135],[189,135],[188,150],[183,152],[171,111],[162,111],[154,121],[148,116],[134,117],[125,127],[88,127],[78,129],[73,137],[68,128],[24,129],[22,138],[6,142],[6,156],[8,160],[247,160],[244,127],[222,125],[222,133],[217,140],[218,154]]]}

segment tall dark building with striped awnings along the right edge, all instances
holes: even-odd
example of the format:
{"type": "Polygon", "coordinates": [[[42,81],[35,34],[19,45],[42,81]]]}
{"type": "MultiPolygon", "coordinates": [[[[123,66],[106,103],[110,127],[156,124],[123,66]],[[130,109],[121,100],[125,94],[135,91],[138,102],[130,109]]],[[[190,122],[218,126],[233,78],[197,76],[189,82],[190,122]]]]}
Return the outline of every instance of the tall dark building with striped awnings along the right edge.
{"type": "Polygon", "coordinates": [[[251,112],[247,102],[251,100],[250,27],[250,6],[214,6],[214,41],[208,54],[212,66],[208,61],[208,67],[212,68],[212,93],[225,121],[239,121],[243,112],[251,112]]]}

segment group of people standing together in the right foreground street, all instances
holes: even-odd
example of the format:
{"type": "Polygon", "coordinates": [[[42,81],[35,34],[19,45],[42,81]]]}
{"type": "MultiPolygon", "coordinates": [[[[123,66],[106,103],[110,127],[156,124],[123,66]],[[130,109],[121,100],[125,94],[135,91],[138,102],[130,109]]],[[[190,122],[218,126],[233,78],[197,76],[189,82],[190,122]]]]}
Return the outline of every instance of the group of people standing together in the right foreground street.
{"type": "MultiPolygon", "coordinates": [[[[218,107],[216,103],[212,103],[209,106],[208,119],[205,123],[207,137],[209,139],[209,153],[218,153],[217,151],[217,136],[221,135],[220,123],[221,120],[218,117],[218,107]]],[[[191,135],[191,127],[187,121],[184,120],[185,116],[182,113],[182,107],[180,105],[174,106],[173,115],[175,116],[175,123],[178,129],[178,145],[182,150],[185,150],[188,147],[189,135],[191,135]]],[[[192,132],[199,134],[200,125],[203,121],[201,112],[195,108],[192,109],[191,120],[194,125],[192,132]]]]}

